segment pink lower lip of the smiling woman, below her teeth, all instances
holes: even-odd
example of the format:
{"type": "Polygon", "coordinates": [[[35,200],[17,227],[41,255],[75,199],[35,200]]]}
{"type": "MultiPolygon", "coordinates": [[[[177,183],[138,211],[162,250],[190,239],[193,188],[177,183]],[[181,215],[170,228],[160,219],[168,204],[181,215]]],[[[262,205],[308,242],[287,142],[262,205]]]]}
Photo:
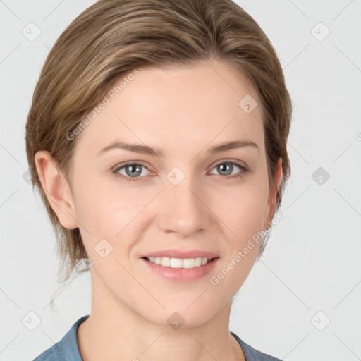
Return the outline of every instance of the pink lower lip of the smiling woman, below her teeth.
{"type": "Polygon", "coordinates": [[[164,277],[168,281],[176,282],[192,282],[200,279],[214,269],[219,257],[212,259],[211,261],[203,264],[203,266],[197,266],[193,268],[172,268],[161,266],[161,264],[155,264],[148,261],[145,258],[141,258],[142,262],[145,262],[147,267],[152,270],[155,274],[164,277]]]}

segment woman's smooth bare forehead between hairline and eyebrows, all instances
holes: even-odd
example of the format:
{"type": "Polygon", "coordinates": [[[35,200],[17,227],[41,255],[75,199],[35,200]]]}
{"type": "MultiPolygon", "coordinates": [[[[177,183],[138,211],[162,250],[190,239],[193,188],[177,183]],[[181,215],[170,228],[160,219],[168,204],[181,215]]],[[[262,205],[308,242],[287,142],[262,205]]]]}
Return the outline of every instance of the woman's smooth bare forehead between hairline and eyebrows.
{"type": "Polygon", "coordinates": [[[262,150],[260,101],[240,71],[207,61],[138,72],[123,75],[109,87],[106,106],[82,130],[78,141],[88,154],[95,156],[115,140],[195,152],[212,140],[242,138],[257,142],[262,150]],[[258,106],[247,112],[243,99],[258,106]]]}

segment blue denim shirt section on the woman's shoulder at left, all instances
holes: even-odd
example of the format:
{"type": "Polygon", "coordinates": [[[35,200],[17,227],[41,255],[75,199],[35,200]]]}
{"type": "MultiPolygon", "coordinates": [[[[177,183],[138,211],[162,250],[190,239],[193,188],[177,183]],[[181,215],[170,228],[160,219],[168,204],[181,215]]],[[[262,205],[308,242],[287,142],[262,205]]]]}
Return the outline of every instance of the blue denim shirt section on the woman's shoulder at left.
{"type": "Polygon", "coordinates": [[[87,317],[89,317],[89,314],[80,317],[59,342],[45,350],[33,361],[82,361],[78,348],[77,331],[79,325],[85,321],[87,317]]]}

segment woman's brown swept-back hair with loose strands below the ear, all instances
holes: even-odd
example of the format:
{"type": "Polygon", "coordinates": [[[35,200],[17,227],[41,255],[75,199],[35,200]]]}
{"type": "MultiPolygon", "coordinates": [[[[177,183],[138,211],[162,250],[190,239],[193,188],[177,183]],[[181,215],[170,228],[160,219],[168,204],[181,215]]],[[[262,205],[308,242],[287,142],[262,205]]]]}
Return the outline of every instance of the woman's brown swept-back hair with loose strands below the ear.
{"type": "MultiPolygon", "coordinates": [[[[56,233],[66,281],[87,261],[79,228],[66,229],[39,181],[35,154],[47,150],[71,184],[76,138],[66,136],[121,75],[147,66],[191,66],[216,59],[235,66],[255,87],[264,122],[269,184],[282,158],[281,205],[290,176],[286,149],[291,99],[276,51],[255,20],[231,0],[101,0],[63,31],[44,63],[27,116],[26,152],[33,188],[39,189],[56,233]]],[[[259,256],[262,254],[265,242],[259,256]]],[[[88,264],[87,264],[88,265],[88,264]]]]}

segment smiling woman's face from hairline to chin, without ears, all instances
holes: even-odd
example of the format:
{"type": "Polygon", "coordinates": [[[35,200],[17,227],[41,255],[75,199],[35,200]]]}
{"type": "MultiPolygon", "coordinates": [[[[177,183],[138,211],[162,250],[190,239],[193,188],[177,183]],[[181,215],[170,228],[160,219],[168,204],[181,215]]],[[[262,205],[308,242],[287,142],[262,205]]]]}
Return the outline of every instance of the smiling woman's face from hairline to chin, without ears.
{"type": "Polygon", "coordinates": [[[72,202],[93,302],[164,326],[178,312],[197,326],[230,306],[257,257],[252,236],[273,215],[261,106],[224,63],[138,71],[75,139],[72,202]],[[219,147],[238,142],[253,145],[219,147]],[[195,266],[201,252],[216,259],[195,266]]]}

